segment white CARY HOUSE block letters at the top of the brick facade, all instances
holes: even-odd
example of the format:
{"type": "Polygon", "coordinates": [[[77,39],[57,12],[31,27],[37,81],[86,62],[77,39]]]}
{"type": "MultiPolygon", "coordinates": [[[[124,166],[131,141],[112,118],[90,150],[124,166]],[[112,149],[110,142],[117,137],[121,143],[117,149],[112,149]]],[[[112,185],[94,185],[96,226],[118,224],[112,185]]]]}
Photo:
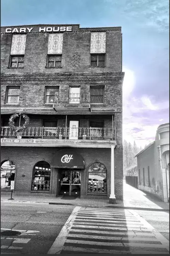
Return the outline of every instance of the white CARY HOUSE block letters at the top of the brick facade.
{"type": "MultiPolygon", "coordinates": [[[[6,33],[21,33],[28,32],[30,33],[33,28],[7,28],[5,30],[6,33]]],[[[72,27],[39,27],[39,32],[64,32],[64,31],[72,31],[72,27]]]]}

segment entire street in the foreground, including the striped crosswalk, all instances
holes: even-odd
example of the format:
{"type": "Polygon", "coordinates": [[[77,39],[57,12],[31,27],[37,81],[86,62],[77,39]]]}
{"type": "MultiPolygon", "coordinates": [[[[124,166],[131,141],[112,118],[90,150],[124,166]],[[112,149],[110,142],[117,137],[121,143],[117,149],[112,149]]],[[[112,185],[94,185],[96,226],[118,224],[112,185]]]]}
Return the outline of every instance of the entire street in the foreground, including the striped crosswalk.
{"type": "Polygon", "coordinates": [[[1,232],[7,229],[20,234],[1,233],[1,254],[166,254],[169,250],[167,212],[1,202],[1,232]]]}

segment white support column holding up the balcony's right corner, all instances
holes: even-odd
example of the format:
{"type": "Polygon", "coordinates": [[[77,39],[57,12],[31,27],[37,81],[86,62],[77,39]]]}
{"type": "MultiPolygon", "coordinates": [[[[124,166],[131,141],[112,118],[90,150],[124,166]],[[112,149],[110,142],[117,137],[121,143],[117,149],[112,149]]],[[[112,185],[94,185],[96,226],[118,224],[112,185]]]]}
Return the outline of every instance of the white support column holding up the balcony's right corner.
{"type": "Polygon", "coordinates": [[[114,148],[115,146],[111,146],[111,194],[109,204],[116,204],[116,197],[114,194],[114,148]]]}

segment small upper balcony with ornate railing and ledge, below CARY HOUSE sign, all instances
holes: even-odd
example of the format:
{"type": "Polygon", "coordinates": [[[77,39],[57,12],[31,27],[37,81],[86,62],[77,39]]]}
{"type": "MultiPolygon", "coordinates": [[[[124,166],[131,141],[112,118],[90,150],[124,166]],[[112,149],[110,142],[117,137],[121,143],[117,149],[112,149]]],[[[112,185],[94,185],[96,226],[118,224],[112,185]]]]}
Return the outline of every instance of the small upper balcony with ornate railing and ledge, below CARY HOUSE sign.
{"type": "Polygon", "coordinates": [[[85,109],[90,111],[90,95],[89,93],[70,93],[60,94],[55,93],[53,108],[58,109],[68,108],[75,111],[75,109],[85,109]]]}

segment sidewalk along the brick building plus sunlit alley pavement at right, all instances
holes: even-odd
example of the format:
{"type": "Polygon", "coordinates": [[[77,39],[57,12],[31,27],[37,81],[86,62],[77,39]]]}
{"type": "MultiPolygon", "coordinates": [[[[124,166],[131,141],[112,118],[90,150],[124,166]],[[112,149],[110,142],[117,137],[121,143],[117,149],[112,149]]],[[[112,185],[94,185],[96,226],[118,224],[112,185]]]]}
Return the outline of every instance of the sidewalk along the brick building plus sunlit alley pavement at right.
{"type": "Polygon", "coordinates": [[[58,205],[74,205],[88,207],[108,207],[108,208],[128,208],[128,209],[143,209],[143,210],[158,210],[169,211],[169,203],[160,201],[151,194],[136,189],[124,182],[124,201],[116,200],[116,204],[109,204],[109,200],[105,199],[80,199],[79,197],[66,199],[62,196],[57,198],[47,197],[24,197],[12,196],[14,200],[8,200],[10,197],[1,195],[1,201],[8,202],[34,202],[58,205]]]}

